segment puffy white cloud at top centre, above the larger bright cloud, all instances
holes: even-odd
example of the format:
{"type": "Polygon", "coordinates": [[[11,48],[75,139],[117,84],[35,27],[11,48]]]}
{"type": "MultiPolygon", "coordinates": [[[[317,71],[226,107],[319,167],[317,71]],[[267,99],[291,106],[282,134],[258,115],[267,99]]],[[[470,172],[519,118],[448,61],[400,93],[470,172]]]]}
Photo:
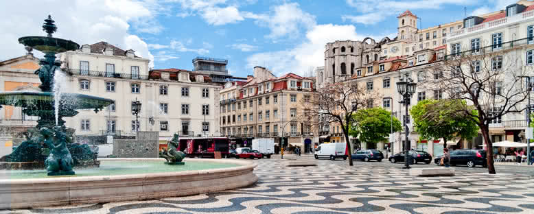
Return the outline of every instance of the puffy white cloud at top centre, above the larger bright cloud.
{"type": "Polygon", "coordinates": [[[301,28],[310,29],[316,25],[315,16],[301,10],[299,3],[284,3],[272,7],[270,14],[247,13],[246,17],[256,19],[260,26],[269,27],[271,32],[266,38],[297,38],[301,28]]]}

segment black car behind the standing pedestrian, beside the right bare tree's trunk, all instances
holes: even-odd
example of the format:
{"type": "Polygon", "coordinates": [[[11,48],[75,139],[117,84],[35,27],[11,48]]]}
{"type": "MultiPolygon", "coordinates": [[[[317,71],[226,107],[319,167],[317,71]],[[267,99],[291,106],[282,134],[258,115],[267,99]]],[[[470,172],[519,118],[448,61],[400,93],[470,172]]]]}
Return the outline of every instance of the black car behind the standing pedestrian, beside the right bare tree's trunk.
{"type": "MultiPolygon", "coordinates": [[[[439,165],[441,161],[439,156],[434,159],[434,163],[439,165]]],[[[476,165],[487,167],[485,150],[454,150],[450,152],[450,165],[467,165],[475,167],[476,165]]]]}

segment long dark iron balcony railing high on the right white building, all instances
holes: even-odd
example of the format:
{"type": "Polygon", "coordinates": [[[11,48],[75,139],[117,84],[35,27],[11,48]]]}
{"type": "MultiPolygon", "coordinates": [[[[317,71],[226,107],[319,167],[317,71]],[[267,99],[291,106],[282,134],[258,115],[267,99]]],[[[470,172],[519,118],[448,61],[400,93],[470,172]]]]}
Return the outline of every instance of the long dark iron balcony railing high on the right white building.
{"type": "Polygon", "coordinates": [[[502,51],[506,49],[511,49],[513,47],[518,47],[520,45],[529,45],[529,44],[534,44],[534,37],[520,38],[517,40],[511,40],[506,43],[500,43],[498,45],[488,45],[485,47],[479,47],[478,49],[469,49],[467,51],[451,53],[449,55],[445,55],[445,60],[452,60],[454,58],[461,58],[463,56],[476,56],[479,54],[502,51]]]}

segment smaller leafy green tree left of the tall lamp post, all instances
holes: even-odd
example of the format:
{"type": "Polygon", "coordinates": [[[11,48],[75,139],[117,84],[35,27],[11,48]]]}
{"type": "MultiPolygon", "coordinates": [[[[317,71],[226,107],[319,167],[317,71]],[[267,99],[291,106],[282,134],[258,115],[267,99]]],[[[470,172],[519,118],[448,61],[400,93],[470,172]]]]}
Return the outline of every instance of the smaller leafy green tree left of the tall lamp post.
{"type": "MultiPolygon", "coordinates": [[[[386,137],[391,133],[391,112],[384,108],[360,109],[352,117],[357,122],[351,126],[349,134],[358,136],[362,142],[386,141],[386,137]]],[[[393,132],[400,130],[402,130],[401,122],[393,117],[393,132]]]]}

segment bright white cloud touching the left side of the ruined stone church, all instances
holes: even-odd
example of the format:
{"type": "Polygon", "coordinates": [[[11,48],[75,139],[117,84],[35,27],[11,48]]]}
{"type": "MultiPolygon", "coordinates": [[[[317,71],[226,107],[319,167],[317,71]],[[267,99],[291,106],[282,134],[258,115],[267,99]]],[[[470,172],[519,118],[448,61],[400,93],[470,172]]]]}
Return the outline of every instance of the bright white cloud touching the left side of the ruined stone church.
{"type": "Polygon", "coordinates": [[[247,69],[266,65],[276,75],[297,73],[305,75],[310,67],[324,65],[325,44],[334,40],[362,40],[353,25],[316,25],[306,33],[297,47],[283,51],[255,53],[247,58],[247,69]]]}

